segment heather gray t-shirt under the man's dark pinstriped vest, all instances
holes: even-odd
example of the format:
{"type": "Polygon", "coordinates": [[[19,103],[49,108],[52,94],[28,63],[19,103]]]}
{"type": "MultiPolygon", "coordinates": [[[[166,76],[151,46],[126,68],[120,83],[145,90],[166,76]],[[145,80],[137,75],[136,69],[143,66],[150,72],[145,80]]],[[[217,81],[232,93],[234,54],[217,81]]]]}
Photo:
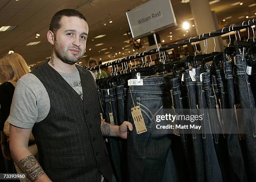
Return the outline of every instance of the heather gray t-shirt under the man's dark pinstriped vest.
{"type": "MultiPolygon", "coordinates": [[[[59,74],[83,99],[79,71],[59,74]]],[[[8,122],[20,128],[32,128],[36,122],[44,120],[49,111],[50,99],[42,82],[32,73],[21,77],[15,87],[8,122]]]]}

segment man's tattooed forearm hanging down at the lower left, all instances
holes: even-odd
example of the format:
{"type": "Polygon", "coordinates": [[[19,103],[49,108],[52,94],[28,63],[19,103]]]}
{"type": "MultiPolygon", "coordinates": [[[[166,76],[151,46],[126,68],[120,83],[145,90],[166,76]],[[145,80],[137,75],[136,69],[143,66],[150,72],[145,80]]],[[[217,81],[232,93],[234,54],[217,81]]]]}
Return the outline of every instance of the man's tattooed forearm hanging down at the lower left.
{"type": "Polygon", "coordinates": [[[27,147],[12,147],[11,155],[20,170],[27,174],[28,179],[36,182],[51,182],[27,147]]]}

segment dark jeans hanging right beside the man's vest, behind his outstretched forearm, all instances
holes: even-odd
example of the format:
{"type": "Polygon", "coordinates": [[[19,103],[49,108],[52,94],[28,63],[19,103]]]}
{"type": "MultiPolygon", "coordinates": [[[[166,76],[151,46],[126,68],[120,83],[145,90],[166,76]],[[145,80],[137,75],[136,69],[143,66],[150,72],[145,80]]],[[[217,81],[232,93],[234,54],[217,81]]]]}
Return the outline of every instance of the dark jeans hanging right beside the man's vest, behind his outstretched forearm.
{"type": "MultiPolygon", "coordinates": [[[[114,121],[117,119],[116,109],[115,109],[115,95],[113,88],[111,89],[103,89],[103,97],[104,97],[104,108],[105,108],[105,122],[110,123],[109,113],[113,112],[114,121]],[[114,107],[113,107],[114,106],[114,107]]],[[[108,152],[110,153],[110,162],[112,165],[113,173],[118,182],[122,181],[121,177],[121,156],[120,156],[120,142],[117,138],[109,137],[108,142],[108,152]]]]}

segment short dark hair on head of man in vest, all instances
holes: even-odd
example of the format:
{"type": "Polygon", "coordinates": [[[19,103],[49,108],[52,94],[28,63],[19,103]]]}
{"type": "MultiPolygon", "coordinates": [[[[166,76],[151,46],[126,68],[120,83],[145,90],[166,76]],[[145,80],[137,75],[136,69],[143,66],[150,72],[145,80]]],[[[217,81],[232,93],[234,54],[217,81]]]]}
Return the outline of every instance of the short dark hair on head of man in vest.
{"type": "Polygon", "coordinates": [[[63,17],[63,16],[79,17],[81,19],[84,19],[84,21],[86,21],[84,15],[82,15],[81,12],[79,12],[77,10],[74,10],[74,9],[64,9],[64,10],[60,10],[60,11],[56,12],[55,15],[51,18],[51,23],[50,23],[49,30],[51,30],[54,33],[57,30],[59,30],[59,28],[61,27],[59,22],[61,20],[61,17],[63,17]]]}

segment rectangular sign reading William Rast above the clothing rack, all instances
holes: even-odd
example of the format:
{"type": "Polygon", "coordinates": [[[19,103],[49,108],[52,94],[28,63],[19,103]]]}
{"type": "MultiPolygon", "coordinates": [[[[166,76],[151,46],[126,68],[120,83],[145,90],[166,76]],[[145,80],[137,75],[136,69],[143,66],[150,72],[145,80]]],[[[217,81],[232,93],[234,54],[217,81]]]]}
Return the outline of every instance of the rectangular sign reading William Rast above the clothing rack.
{"type": "Polygon", "coordinates": [[[170,0],[150,0],[126,12],[133,40],[177,25],[170,0]]]}

